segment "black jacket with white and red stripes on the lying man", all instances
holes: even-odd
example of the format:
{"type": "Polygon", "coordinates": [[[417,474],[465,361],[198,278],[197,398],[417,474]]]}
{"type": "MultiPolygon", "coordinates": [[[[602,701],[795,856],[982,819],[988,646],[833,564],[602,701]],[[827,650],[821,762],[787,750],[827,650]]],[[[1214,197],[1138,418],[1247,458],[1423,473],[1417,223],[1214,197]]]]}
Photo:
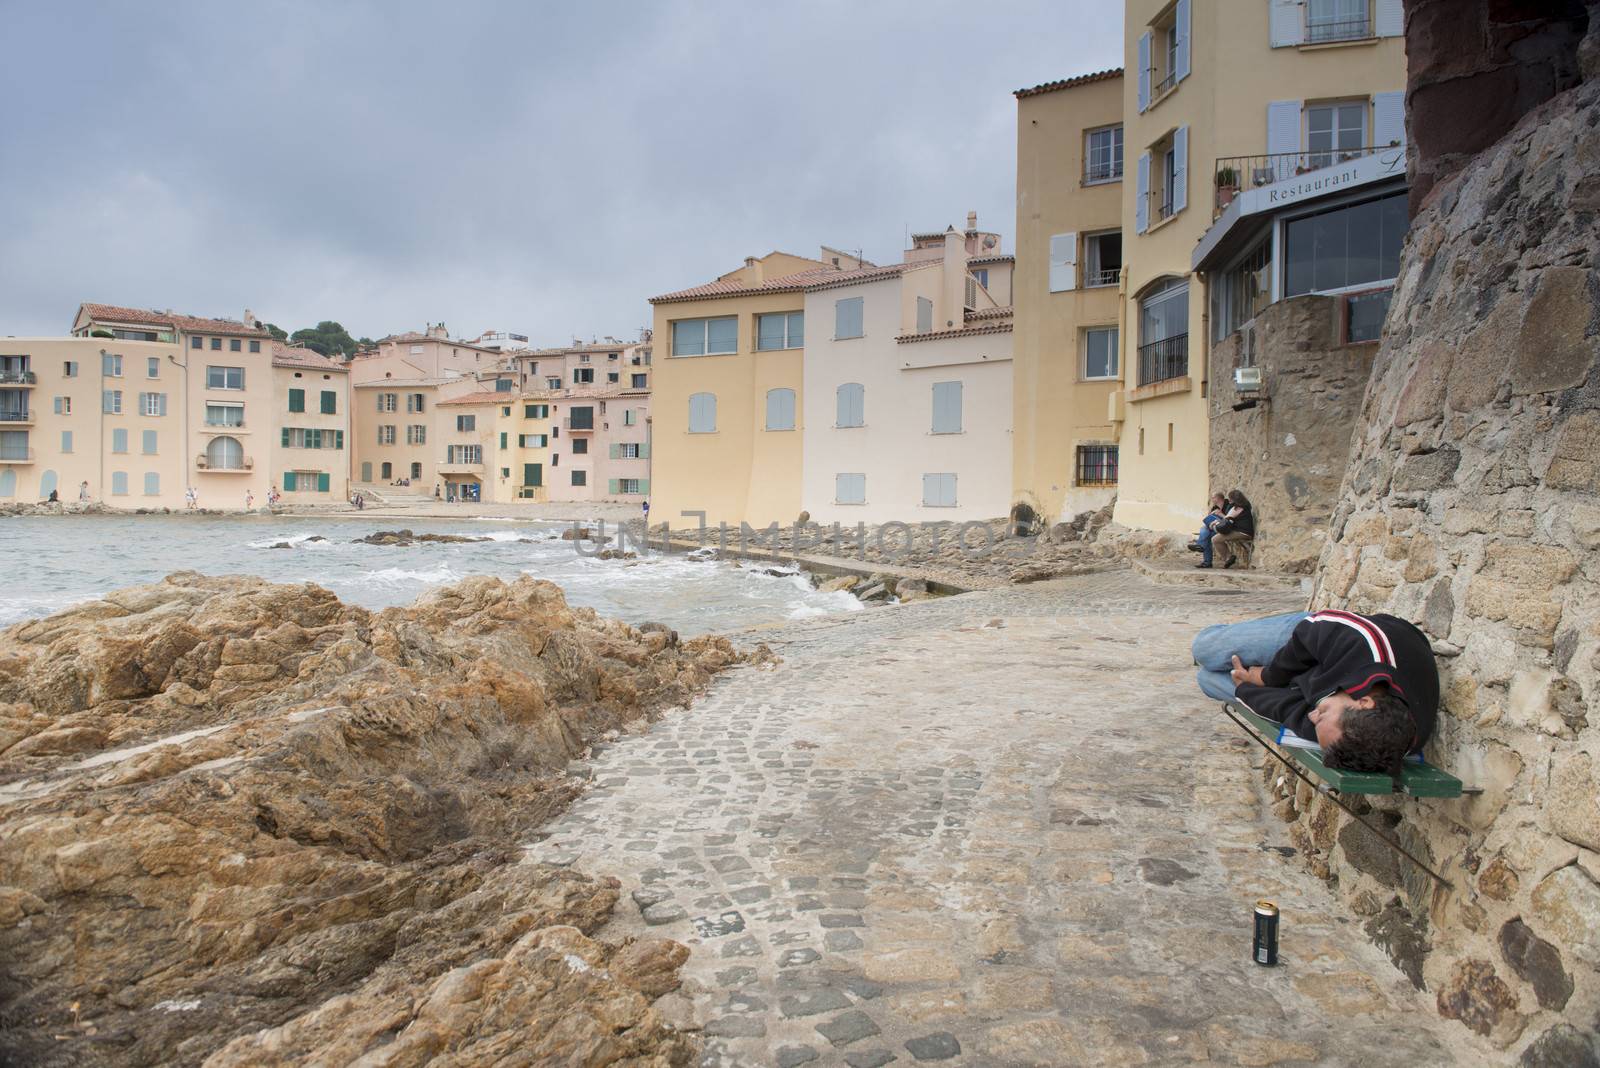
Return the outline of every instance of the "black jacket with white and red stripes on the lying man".
{"type": "Polygon", "coordinates": [[[1334,691],[1362,697],[1387,683],[1406,708],[1416,753],[1434,734],[1438,715],[1438,668],[1427,636],[1395,616],[1357,616],[1323,609],[1302,619],[1288,643],[1261,670],[1264,686],[1243,683],[1238,699],[1256,715],[1275,719],[1302,739],[1317,740],[1310,710],[1334,691]]]}

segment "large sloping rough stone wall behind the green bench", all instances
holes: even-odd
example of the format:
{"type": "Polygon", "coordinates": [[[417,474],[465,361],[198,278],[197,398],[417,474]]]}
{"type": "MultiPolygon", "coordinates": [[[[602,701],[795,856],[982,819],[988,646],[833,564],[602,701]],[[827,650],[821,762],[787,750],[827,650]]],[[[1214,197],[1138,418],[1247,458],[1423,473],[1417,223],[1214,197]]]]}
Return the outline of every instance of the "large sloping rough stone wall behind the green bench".
{"type": "MultiPolygon", "coordinates": [[[[1442,6],[1470,5],[1416,5],[1442,6]]],[[[1600,1063],[1600,19],[1573,62],[1578,88],[1413,221],[1315,579],[1314,604],[1435,644],[1429,756],[1483,793],[1373,817],[1451,886],[1309,791],[1280,801],[1438,1012],[1523,1065],[1600,1063]]]]}

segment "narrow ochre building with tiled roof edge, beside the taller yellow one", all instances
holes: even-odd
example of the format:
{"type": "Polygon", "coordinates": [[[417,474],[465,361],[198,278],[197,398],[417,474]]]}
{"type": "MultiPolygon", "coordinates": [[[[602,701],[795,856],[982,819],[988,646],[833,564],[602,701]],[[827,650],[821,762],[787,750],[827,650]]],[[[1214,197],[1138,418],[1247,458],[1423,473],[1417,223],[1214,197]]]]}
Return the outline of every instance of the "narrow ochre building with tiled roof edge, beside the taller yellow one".
{"type": "Polygon", "coordinates": [[[1117,494],[1122,70],[1016,93],[1013,497],[1048,521],[1117,494]]]}

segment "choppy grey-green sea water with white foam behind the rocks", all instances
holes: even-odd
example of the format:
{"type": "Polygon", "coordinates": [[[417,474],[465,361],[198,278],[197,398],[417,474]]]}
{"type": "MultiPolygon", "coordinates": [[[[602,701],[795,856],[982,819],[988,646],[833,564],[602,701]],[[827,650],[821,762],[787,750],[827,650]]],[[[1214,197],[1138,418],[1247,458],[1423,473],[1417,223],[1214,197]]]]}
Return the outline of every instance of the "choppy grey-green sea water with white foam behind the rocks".
{"type": "Polygon", "coordinates": [[[570,604],[629,624],[662,622],[683,635],[861,609],[848,593],[822,593],[806,576],[774,576],[766,566],[656,552],[598,560],[562,540],[563,529],[562,523],[266,515],[0,518],[0,627],[173,571],[315,582],[365,608],[410,604],[474,574],[528,574],[562,587],[570,604]],[[397,528],[491,540],[410,547],[357,540],[397,528]]]}

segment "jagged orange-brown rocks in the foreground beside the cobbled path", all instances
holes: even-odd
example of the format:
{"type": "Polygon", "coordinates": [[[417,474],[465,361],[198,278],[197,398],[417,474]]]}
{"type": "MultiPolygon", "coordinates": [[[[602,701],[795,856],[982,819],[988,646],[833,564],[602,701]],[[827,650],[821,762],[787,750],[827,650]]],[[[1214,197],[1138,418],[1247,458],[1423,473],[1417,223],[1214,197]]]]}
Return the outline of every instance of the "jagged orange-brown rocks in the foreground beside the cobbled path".
{"type": "MultiPolygon", "coordinates": [[[[760,651],[758,651],[760,654],[760,651]]],[[[741,654],[474,577],[368,612],[179,572],[0,633],[0,1049],[690,1063],[686,950],[523,860],[590,742],[741,654]]]]}

